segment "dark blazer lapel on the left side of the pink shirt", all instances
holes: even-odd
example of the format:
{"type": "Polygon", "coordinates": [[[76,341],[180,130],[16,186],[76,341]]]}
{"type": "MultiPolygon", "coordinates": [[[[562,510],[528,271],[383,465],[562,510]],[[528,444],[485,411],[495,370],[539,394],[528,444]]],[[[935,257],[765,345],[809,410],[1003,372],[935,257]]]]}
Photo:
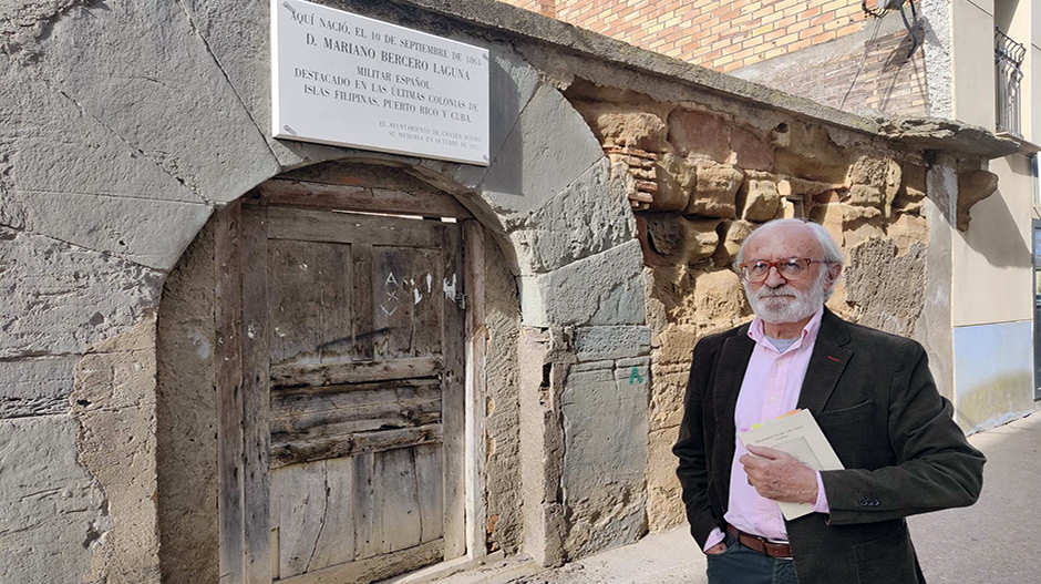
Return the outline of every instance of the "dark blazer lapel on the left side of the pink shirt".
{"type": "MultiPolygon", "coordinates": [[[[749,325],[744,325],[723,344],[715,367],[712,403],[717,429],[714,450],[719,459],[714,461],[712,469],[715,481],[722,486],[722,493],[730,492],[730,465],[733,463],[736,440],[734,409],[738,407],[738,393],[741,391],[744,371],[749,368],[749,359],[752,358],[754,348],[755,341],[749,337],[749,325]]],[[[725,496],[723,499],[725,504],[725,496]]]]}

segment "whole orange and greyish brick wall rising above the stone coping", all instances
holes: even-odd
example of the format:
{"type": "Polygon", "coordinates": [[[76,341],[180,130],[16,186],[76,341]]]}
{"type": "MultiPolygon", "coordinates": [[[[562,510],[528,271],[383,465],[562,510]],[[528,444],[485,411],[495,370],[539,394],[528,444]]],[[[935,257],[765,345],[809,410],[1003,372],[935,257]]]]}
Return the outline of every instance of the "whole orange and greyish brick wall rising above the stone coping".
{"type": "Polygon", "coordinates": [[[878,22],[859,0],[502,1],[834,107],[928,115],[923,49],[907,59],[910,38],[903,25],[868,42],[878,22]],[[803,57],[838,39],[845,40],[803,57]],[[766,60],[769,66],[754,66],[766,60]]]}

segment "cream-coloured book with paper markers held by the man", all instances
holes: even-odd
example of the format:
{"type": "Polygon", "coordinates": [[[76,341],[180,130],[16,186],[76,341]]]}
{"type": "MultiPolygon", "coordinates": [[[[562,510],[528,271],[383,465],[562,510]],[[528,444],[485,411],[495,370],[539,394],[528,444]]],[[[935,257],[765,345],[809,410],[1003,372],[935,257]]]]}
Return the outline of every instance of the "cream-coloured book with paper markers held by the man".
{"type": "MultiPolygon", "coordinates": [[[[755,424],[751,430],[738,434],[741,443],[781,450],[798,459],[815,471],[842,470],[842,461],[832,449],[817,421],[810,410],[795,410],[779,418],[755,424]]],[[[755,454],[751,454],[755,455],[755,454]]],[[[784,519],[791,521],[813,512],[810,503],[777,502],[784,519]]]]}

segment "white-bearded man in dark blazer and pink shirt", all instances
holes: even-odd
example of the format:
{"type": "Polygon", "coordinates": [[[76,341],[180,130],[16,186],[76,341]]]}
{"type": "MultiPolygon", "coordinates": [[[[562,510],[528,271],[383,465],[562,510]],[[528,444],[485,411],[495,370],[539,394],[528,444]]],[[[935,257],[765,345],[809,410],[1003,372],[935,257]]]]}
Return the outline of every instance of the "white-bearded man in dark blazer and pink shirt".
{"type": "Polygon", "coordinates": [[[925,582],[904,518],[976,502],[985,462],[925,350],[824,307],[843,259],[820,225],[766,223],[735,264],[755,319],[694,348],[673,448],[710,584],[925,582]],[[795,408],[810,410],[845,470],[744,450],[736,429],[795,408]],[[785,521],[777,501],[814,512],[785,521]]]}

